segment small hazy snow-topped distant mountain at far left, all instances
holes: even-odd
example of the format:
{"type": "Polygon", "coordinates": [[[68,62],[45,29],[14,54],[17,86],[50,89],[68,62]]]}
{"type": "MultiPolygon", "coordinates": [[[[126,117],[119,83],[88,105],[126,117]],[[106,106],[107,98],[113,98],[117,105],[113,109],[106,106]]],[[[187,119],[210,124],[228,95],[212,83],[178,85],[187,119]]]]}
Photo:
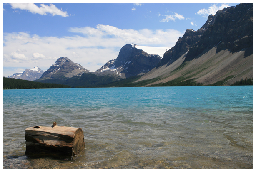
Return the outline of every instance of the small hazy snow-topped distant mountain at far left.
{"type": "Polygon", "coordinates": [[[39,79],[43,74],[43,71],[39,67],[34,67],[32,69],[26,69],[21,73],[15,73],[13,75],[8,76],[8,78],[15,78],[15,79],[23,79],[28,81],[34,81],[39,79]]]}

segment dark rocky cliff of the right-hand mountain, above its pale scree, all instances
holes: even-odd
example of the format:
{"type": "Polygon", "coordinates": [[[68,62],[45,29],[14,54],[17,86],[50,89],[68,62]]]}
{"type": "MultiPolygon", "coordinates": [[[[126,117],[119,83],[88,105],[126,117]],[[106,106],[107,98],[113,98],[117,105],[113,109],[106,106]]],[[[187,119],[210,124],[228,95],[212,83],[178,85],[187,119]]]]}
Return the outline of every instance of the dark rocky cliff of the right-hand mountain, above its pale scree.
{"type": "Polygon", "coordinates": [[[157,68],[172,64],[186,52],[185,61],[189,61],[215,46],[216,53],[221,49],[237,52],[252,44],[253,4],[239,4],[219,10],[216,15],[209,15],[206,23],[197,31],[187,29],[175,46],[164,54],[157,68]]]}

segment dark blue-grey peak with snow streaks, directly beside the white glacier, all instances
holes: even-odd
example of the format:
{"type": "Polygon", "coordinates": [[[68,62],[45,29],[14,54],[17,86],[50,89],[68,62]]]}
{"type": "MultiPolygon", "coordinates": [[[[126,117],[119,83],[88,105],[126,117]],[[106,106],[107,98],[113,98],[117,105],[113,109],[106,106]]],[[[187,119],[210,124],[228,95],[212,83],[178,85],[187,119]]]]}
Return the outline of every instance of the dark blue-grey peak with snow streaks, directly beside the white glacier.
{"type": "Polygon", "coordinates": [[[111,67],[108,64],[109,69],[105,70],[104,66],[97,70],[102,74],[119,74],[125,78],[135,76],[138,74],[144,74],[154,67],[161,61],[161,57],[158,55],[151,55],[144,52],[141,49],[137,49],[131,44],[127,44],[120,49],[118,57],[113,60],[111,67]],[[114,61],[114,62],[113,62],[114,61]],[[104,69],[103,69],[104,68],[104,69]],[[103,73],[104,72],[104,73],[103,73]]]}

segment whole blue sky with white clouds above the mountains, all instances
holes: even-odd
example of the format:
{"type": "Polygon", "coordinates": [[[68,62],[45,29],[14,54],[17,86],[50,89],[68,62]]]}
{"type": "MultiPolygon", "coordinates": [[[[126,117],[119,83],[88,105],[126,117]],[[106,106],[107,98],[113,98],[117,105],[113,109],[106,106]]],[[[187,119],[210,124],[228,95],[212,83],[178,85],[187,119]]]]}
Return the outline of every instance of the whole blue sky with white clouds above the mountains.
{"type": "Polygon", "coordinates": [[[238,4],[158,2],[3,3],[3,75],[46,71],[60,57],[96,71],[125,44],[171,48],[186,29],[238,4]]]}

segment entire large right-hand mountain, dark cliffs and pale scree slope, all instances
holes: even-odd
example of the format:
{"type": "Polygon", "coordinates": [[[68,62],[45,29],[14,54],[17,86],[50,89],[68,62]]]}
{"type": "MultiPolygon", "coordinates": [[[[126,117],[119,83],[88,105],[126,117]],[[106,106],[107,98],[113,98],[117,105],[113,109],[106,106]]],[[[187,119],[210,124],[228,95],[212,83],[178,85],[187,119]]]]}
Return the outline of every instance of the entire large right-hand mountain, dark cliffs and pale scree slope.
{"type": "MultiPolygon", "coordinates": [[[[204,85],[253,78],[253,4],[239,4],[210,15],[201,29],[188,29],[156,68],[138,81],[151,84],[195,79],[204,85]],[[211,21],[211,22],[209,22],[211,21]]],[[[148,84],[149,85],[149,84],[148,84]]]]}

